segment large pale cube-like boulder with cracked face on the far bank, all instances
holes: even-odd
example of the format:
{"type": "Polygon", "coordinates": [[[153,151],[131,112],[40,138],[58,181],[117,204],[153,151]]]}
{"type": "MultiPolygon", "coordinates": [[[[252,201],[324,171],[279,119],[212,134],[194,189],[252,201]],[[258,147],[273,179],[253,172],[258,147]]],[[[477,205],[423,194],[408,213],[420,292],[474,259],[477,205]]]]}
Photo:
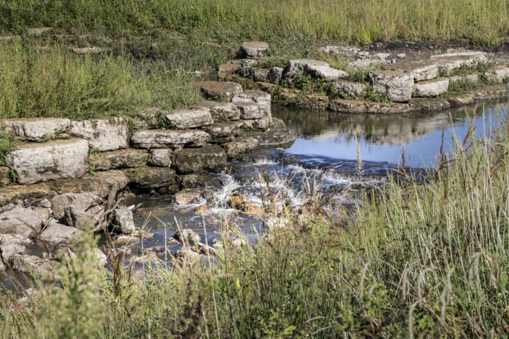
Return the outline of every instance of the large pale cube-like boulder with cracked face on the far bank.
{"type": "Polygon", "coordinates": [[[407,102],[412,98],[414,80],[408,73],[398,71],[370,72],[370,82],[376,93],[387,94],[394,102],[407,102]]]}

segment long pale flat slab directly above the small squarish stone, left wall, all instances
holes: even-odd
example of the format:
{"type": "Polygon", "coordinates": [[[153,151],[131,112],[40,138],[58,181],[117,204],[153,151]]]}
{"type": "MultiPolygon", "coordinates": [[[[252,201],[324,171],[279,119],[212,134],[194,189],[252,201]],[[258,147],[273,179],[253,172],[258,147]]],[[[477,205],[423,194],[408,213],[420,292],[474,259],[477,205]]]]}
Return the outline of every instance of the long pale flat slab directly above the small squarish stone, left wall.
{"type": "Polygon", "coordinates": [[[206,144],[209,138],[200,130],[145,130],[135,132],[131,142],[137,148],[196,147],[206,144]]]}

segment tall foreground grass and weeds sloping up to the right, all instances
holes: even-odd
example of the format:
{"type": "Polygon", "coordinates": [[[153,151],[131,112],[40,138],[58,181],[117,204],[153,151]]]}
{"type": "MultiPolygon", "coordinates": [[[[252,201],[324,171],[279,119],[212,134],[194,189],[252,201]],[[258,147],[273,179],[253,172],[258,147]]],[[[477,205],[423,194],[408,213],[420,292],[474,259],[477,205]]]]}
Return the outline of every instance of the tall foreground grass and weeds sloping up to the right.
{"type": "Polygon", "coordinates": [[[23,307],[4,297],[2,336],[503,337],[508,150],[501,131],[458,140],[428,183],[402,172],[346,219],[324,216],[312,195],[308,218],[287,209],[289,228],[240,250],[225,243],[211,266],[139,281],[101,275],[78,250],[72,274],[60,270],[63,292],[23,307]]]}

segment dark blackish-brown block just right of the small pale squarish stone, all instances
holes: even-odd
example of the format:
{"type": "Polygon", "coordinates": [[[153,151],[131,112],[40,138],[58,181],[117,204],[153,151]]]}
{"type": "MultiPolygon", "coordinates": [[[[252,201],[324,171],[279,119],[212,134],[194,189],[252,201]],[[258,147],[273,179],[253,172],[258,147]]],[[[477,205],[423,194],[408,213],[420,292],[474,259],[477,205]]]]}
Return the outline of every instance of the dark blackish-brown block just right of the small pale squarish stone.
{"type": "Polygon", "coordinates": [[[226,165],[224,149],[217,145],[187,148],[175,153],[175,166],[181,173],[200,173],[218,170],[226,165]]]}

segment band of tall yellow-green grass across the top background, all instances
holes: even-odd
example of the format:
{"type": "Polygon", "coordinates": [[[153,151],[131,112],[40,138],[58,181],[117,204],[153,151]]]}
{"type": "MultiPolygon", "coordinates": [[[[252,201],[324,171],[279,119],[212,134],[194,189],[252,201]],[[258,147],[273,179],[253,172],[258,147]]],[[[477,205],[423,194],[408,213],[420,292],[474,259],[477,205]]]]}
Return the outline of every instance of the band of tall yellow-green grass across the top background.
{"type": "Polygon", "coordinates": [[[14,0],[0,4],[0,27],[54,26],[67,32],[157,35],[192,32],[214,39],[471,39],[501,42],[507,0],[14,0]]]}

